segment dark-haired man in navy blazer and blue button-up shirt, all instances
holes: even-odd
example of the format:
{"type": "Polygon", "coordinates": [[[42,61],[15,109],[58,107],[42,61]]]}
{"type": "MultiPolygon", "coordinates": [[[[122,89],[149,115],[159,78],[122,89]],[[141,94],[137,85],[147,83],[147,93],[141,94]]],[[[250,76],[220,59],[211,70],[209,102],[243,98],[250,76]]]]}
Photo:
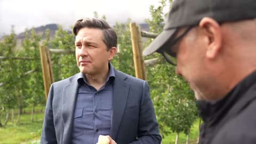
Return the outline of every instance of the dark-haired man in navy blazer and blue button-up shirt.
{"type": "Polygon", "coordinates": [[[53,83],[46,103],[41,143],[161,143],[146,81],[109,62],[117,35],[106,21],[78,20],[76,60],[81,73],[53,83]]]}

